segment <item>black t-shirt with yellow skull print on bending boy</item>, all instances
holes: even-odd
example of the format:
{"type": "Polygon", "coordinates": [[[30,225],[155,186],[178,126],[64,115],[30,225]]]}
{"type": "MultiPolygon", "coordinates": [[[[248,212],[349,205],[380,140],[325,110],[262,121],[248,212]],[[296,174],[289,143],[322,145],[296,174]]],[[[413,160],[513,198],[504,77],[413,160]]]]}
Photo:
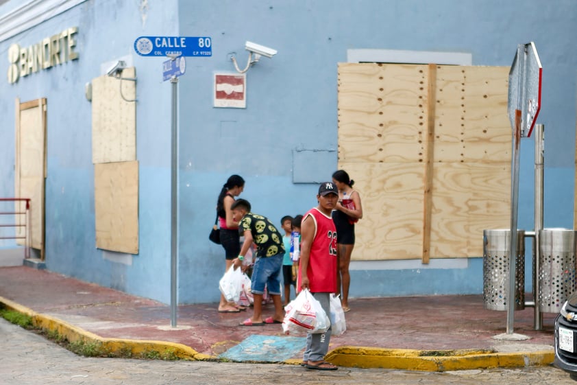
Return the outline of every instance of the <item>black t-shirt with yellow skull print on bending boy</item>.
{"type": "Polygon", "coordinates": [[[282,235],[268,218],[254,213],[247,213],[238,226],[241,235],[250,230],[254,243],[256,244],[256,257],[272,257],[273,255],[284,255],[284,244],[282,235]]]}

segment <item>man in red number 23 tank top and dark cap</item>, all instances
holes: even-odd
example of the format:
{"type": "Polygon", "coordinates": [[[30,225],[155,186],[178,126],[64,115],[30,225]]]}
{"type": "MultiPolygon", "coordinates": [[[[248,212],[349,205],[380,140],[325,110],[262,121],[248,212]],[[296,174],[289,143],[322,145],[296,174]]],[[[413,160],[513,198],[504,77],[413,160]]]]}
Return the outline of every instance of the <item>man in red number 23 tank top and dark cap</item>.
{"type": "MultiPolygon", "coordinates": [[[[330,294],[336,292],[336,229],[330,216],[339,191],[332,182],[322,183],[317,195],[319,205],[310,209],[301,224],[301,256],[299,260],[300,290],[308,289],[330,314],[330,294]]],[[[326,362],[331,328],[325,333],[307,334],[303,365],[308,369],[334,371],[326,362]]]]}

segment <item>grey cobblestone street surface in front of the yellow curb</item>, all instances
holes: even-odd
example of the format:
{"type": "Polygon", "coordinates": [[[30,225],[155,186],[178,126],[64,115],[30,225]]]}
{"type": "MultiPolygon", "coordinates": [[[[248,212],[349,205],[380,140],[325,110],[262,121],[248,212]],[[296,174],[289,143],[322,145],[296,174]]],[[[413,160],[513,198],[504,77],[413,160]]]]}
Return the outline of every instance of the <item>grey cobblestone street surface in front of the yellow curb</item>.
{"type": "Polygon", "coordinates": [[[430,373],[341,368],[334,372],[282,364],[232,364],[84,358],[0,318],[0,384],[399,384],[574,385],[554,367],[430,373]]]}

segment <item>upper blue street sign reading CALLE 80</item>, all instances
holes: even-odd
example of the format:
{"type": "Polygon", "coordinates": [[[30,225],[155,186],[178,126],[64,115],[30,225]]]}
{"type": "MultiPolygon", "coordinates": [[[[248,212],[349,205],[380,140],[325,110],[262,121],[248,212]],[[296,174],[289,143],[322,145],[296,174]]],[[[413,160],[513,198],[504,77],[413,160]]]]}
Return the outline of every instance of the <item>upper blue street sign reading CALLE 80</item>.
{"type": "Polygon", "coordinates": [[[134,40],[140,56],[212,56],[209,37],[140,36],[134,40]]]}

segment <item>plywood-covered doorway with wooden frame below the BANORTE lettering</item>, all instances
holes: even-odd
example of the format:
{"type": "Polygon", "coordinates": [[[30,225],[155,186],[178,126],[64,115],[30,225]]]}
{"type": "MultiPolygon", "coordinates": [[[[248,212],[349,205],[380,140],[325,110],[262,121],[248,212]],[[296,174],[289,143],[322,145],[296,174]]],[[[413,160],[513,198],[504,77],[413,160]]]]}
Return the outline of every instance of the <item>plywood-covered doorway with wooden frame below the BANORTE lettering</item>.
{"type": "MultiPolygon", "coordinates": [[[[30,198],[30,226],[32,248],[39,250],[44,259],[44,203],[46,180],[46,99],[21,103],[16,99],[16,151],[14,168],[14,195],[30,198]]],[[[24,211],[24,203],[16,203],[16,211],[24,211]]],[[[18,227],[18,236],[25,229],[18,227]]]]}

